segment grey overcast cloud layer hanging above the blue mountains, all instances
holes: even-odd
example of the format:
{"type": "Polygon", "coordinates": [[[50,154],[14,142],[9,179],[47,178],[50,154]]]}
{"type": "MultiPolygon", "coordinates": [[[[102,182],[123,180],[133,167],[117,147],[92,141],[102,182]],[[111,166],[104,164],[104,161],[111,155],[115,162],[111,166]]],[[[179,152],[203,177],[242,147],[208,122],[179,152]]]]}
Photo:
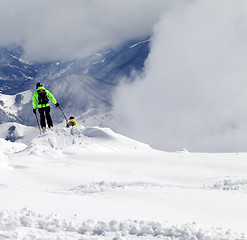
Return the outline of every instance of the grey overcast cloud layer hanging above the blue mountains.
{"type": "Polygon", "coordinates": [[[33,61],[84,57],[151,33],[170,0],[1,0],[0,45],[33,61]]]}

